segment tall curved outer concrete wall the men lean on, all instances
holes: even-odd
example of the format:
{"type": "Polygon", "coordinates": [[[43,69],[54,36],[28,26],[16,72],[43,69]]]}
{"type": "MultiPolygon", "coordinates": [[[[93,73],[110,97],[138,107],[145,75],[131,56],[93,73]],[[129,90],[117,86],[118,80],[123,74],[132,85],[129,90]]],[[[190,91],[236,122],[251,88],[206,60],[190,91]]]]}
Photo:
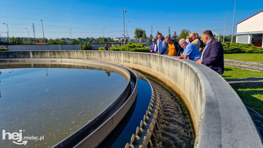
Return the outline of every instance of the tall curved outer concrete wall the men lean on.
{"type": "Polygon", "coordinates": [[[262,137],[236,92],[218,73],[202,64],[139,52],[0,52],[0,58],[28,57],[102,60],[138,69],[181,96],[193,121],[195,147],[263,147],[262,137]]]}

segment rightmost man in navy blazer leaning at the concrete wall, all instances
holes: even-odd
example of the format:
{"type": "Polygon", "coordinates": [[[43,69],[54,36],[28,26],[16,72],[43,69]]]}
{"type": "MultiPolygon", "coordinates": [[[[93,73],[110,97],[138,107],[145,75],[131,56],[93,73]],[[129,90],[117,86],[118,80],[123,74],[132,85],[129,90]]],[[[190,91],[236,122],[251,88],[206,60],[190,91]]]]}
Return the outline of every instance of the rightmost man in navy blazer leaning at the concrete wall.
{"type": "Polygon", "coordinates": [[[202,34],[202,40],[206,46],[202,52],[201,58],[196,63],[208,66],[219,75],[224,73],[224,49],[222,44],[216,40],[210,30],[202,34]]]}

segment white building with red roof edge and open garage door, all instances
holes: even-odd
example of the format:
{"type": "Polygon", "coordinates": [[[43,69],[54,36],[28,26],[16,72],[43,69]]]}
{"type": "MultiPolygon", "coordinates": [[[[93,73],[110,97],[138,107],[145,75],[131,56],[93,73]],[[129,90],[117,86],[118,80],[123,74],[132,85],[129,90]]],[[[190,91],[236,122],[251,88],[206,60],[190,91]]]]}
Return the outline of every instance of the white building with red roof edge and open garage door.
{"type": "Polygon", "coordinates": [[[252,43],[262,46],[263,11],[237,24],[236,43],[252,43]]]}

